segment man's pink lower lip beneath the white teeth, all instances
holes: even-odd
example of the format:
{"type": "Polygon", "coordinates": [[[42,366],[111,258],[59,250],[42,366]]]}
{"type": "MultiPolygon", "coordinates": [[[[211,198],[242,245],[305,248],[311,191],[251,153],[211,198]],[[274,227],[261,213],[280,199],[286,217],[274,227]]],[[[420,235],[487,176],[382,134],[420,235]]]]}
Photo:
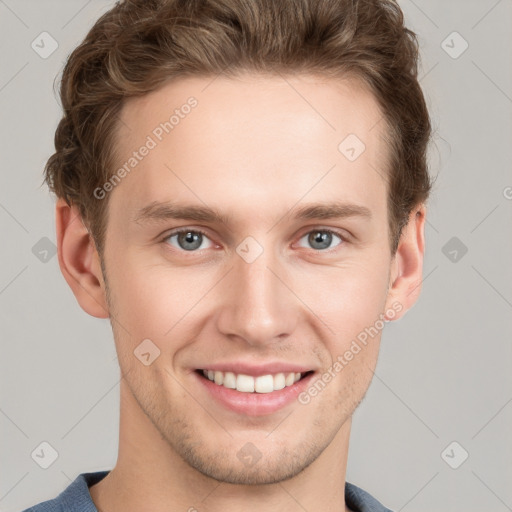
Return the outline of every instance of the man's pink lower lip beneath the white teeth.
{"type": "Polygon", "coordinates": [[[247,416],[272,414],[296,401],[297,396],[306,390],[314,376],[314,373],[310,373],[291,386],[271,393],[243,393],[236,389],[219,386],[197,372],[192,373],[223,407],[247,416]]]}

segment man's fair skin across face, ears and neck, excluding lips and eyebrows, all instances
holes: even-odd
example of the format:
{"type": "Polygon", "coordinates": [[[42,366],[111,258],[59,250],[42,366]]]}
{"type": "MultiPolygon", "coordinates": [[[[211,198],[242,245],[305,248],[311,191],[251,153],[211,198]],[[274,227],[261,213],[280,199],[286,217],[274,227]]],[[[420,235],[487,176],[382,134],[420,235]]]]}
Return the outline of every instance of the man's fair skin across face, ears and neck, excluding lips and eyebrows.
{"type": "Polygon", "coordinates": [[[123,375],[117,464],[91,496],[109,512],[349,510],[351,416],[381,331],[308,404],[269,415],[228,411],[192,371],[238,359],[290,361],[317,375],[332,368],[379,315],[399,304],[397,320],[416,301],[425,206],[392,258],[385,123],[373,96],[349,80],[247,74],[166,84],[125,104],[119,165],[190,96],[197,107],[109,192],[105,275],[76,208],[57,203],[62,273],[87,313],[110,318],[123,375]],[[366,146],[353,162],[338,150],[351,133],[366,146]],[[135,222],[153,201],[207,205],[229,222],[135,222]],[[294,219],[306,203],[328,201],[365,206],[371,219],[294,219]],[[178,227],[208,237],[186,251],[166,238],[178,227]],[[307,235],[320,228],[344,238],[318,249],[307,235]],[[252,263],[236,252],[247,236],[263,247],[252,263]],[[147,338],[161,353],[145,366],[133,351],[147,338]],[[237,457],[248,442],[261,454],[250,467],[237,457]]]}

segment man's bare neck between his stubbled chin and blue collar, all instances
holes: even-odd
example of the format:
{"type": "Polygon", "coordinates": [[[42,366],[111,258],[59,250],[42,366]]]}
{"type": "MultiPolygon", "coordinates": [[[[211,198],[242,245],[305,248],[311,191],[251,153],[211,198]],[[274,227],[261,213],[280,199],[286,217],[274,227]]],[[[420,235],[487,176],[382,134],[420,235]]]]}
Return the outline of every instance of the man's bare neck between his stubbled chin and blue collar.
{"type": "Polygon", "coordinates": [[[349,511],[345,474],[348,420],[322,454],[295,477],[266,485],[216,481],[187,464],[166,442],[121,381],[116,466],[90,487],[99,511],[303,512],[349,511]]]}

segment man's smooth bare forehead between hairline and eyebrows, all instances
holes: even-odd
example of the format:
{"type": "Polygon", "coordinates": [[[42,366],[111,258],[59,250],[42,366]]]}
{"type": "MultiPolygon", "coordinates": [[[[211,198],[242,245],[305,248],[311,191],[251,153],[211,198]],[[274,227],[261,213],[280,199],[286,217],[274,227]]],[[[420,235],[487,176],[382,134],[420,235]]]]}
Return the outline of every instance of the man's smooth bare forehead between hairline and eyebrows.
{"type": "Polygon", "coordinates": [[[238,198],[239,207],[269,207],[304,194],[382,202],[381,120],[376,100],[355,81],[250,74],[176,80],[125,104],[118,165],[144,145],[152,149],[113,195],[129,210],[170,199],[230,199],[235,207],[238,198]]]}

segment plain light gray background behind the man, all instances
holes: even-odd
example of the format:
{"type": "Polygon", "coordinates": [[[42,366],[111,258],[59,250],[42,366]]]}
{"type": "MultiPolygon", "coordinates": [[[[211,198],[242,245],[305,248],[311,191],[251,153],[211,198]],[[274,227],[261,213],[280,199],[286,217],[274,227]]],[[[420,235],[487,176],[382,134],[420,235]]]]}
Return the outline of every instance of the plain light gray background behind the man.
{"type": "MultiPolygon", "coordinates": [[[[60,118],[54,78],[111,5],[0,0],[4,512],[53,498],[79,473],[116,460],[110,326],[85,314],[62,278],[50,243],[54,203],[40,186],[60,118]],[[31,47],[43,31],[58,42],[47,58],[31,47]],[[48,469],[31,458],[43,441],[58,452],[48,469]]],[[[354,416],[347,480],[398,511],[512,510],[512,0],[400,5],[419,34],[439,177],[422,295],[385,329],[354,416]],[[469,44],[460,56],[454,31],[469,44]],[[447,461],[459,464],[463,450],[468,459],[453,469],[447,461]]]]}

